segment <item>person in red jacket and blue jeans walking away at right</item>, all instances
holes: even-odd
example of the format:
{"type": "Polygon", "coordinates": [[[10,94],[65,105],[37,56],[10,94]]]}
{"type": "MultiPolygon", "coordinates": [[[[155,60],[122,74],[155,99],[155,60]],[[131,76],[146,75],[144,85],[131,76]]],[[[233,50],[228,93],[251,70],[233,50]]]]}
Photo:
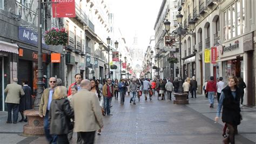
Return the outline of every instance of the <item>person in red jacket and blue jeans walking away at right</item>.
{"type": "Polygon", "coordinates": [[[208,81],[206,85],[206,92],[208,94],[208,99],[210,101],[210,107],[212,108],[214,104],[214,95],[217,95],[217,87],[213,79],[214,78],[211,76],[210,81],[208,81]]]}

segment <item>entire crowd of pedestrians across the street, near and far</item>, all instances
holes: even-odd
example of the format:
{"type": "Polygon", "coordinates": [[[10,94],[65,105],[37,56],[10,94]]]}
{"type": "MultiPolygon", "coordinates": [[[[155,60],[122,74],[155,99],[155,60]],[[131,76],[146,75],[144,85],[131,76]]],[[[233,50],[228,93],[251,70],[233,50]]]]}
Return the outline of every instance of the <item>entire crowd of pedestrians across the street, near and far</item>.
{"type": "MultiPolygon", "coordinates": [[[[49,88],[45,88],[39,104],[39,116],[44,119],[45,137],[50,143],[71,143],[73,132],[77,132],[77,143],[93,143],[95,133],[102,133],[103,116],[111,116],[112,98],[120,105],[125,104],[125,95],[130,96],[130,104],[136,105],[136,99],[144,94],[145,100],[148,95],[157,95],[161,100],[172,100],[172,93],[180,91],[180,79],[106,79],[103,83],[95,78],[83,80],[81,74],[75,75],[75,83],[67,89],[61,86],[61,79],[49,78],[49,88]],[[150,93],[150,92],[153,93],[150,93]],[[156,94],[157,93],[157,94],[156,94]],[[131,94],[131,95],[130,95],[131,94]],[[82,110],[83,109],[83,110],[82,110]],[[86,121],[86,122],[85,122],[86,121]]],[[[28,121],[23,112],[33,107],[33,95],[28,81],[23,81],[23,86],[18,85],[18,79],[6,86],[6,104],[8,106],[8,120],[6,123],[17,123],[18,112],[21,113],[22,121],[28,121]],[[13,120],[11,119],[13,111],[13,120]]],[[[242,78],[230,77],[225,85],[220,77],[217,83],[214,77],[210,77],[203,85],[205,97],[213,108],[214,98],[217,98],[217,116],[223,107],[222,120],[225,122],[224,143],[234,143],[234,135],[240,124],[244,88],[246,85],[242,78]],[[241,103],[240,103],[241,101],[241,103]],[[229,134],[226,136],[226,129],[229,134]]],[[[182,83],[181,83],[182,84],[182,83]]],[[[180,85],[181,86],[181,85],[180,85]]],[[[182,84],[183,92],[191,98],[197,98],[198,83],[196,77],[186,78],[182,84]]],[[[151,99],[150,99],[151,100],[151,99]]]]}

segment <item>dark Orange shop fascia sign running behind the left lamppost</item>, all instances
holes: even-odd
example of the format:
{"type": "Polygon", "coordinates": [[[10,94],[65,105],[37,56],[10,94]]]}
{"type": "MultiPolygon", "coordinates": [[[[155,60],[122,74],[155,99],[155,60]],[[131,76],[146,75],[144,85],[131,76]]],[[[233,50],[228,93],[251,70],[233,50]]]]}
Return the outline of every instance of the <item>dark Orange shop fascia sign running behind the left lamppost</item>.
{"type": "MultiPolygon", "coordinates": [[[[19,59],[37,61],[38,60],[37,51],[19,48],[19,59]]],[[[43,62],[44,63],[48,62],[48,54],[46,53],[43,53],[43,62]]]]}

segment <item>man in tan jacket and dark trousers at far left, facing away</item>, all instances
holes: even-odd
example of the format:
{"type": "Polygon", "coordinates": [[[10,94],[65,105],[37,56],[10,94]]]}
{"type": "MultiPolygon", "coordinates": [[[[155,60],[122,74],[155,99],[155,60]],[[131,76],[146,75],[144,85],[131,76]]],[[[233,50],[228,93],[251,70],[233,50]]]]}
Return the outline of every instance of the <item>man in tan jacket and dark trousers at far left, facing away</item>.
{"type": "Polygon", "coordinates": [[[8,119],[7,124],[11,124],[11,111],[14,113],[14,124],[17,124],[18,113],[19,113],[19,97],[24,95],[24,91],[21,85],[18,85],[18,79],[14,78],[13,83],[6,86],[4,92],[7,93],[5,102],[8,108],[8,119]]]}

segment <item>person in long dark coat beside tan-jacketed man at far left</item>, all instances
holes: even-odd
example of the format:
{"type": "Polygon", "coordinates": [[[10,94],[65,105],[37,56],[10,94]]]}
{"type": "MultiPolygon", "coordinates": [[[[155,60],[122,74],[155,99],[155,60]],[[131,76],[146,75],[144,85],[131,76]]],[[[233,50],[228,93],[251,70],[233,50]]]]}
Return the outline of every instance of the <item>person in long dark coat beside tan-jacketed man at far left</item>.
{"type": "Polygon", "coordinates": [[[31,87],[28,86],[28,81],[24,80],[23,81],[23,91],[25,93],[25,95],[23,95],[21,97],[21,99],[19,99],[19,112],[21,113],[22,119],[19,120],[19,122],[28,121],[28,118],[26,117],[26,119],[24,119],[24,114],[23,112],[27,109],[32,109],[32,90],[31,87]]]}

